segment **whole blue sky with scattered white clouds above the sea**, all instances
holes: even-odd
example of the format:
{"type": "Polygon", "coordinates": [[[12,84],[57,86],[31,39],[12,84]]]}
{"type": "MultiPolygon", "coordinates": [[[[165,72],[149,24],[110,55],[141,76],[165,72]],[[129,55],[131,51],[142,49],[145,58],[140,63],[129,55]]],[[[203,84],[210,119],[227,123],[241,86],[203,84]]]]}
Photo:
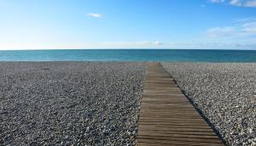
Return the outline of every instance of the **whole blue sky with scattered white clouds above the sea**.
{"type": "Polygon", "coordinates": [[[256,0],[0,0],[0,49],[256,49],[256,0]]]}

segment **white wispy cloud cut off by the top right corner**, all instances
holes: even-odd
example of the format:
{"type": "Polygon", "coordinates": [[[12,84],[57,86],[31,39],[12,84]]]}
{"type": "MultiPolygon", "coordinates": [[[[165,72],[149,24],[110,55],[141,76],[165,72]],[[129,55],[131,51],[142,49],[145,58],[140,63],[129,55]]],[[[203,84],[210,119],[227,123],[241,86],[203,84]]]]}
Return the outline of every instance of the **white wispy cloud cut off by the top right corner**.
{"type": "Polygon", "coordinates": [[[232,6],[256,8],[256,0],[209,0],[212,3],[229,3],[232,6]]]}

